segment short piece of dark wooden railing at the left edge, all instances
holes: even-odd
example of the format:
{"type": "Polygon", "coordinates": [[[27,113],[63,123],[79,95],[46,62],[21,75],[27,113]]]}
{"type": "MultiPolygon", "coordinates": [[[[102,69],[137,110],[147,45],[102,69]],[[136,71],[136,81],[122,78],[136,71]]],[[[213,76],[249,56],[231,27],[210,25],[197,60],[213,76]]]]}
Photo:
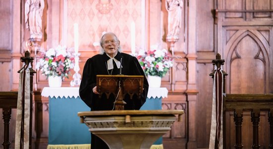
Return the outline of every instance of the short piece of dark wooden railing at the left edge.
{"type": "Polygon", "coordinates": [[[11,109],[17,107],[18,92],[0,92],[0,109],[4,120],[4,149],[9,149],[9,120],[11,118],[11,109]]]}

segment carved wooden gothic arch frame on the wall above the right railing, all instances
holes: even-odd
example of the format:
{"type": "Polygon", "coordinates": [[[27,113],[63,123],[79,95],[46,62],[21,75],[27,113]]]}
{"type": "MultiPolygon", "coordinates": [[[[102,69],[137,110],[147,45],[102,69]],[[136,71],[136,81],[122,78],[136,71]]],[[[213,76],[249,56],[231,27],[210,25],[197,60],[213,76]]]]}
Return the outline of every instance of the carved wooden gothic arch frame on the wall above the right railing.
{"type": "MultiPolygon", "coordinates": [[[[269,92],[269,51],[270,46],[265,37],[257,30],[238,30],[227,42],[225,49],[223,51],[224,58],[226,60],[225,70],[227,74],[230,74],[230,66],[232,62],[232,54],[236,49],[236,46],[243,40],[245,37],[250,36],[260,47],[260,52],[263,54],[263,62],[265,65],[265,91],[269,92]]],[[[258,59],[261,59],[257,56],[258,59]]],[[[230,76],[226,78],[226,92],[230,93],[230,76]]]]}

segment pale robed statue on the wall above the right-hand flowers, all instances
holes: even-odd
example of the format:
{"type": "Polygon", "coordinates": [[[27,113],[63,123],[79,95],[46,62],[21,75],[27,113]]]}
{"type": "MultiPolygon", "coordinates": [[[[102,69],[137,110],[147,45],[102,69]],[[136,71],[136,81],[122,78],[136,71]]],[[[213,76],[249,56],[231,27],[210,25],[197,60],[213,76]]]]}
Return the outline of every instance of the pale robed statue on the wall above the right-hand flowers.
{"type": "Polygon", "coordinates": [[[166,0],[168,11],[168,34],[167,39],[179,39],[179,28],[181,26],[181,11],[183,0],[166,0]]]}

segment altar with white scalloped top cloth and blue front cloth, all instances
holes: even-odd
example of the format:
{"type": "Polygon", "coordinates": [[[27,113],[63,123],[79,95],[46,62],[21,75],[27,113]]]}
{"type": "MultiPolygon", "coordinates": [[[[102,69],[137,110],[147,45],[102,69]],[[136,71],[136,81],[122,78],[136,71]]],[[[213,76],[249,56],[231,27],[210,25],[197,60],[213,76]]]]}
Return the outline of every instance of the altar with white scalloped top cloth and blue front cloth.
{"type": "MultiPolygon", "coordinates": [[[[86,125],[79,123],[77,112],[90,111],[80,99],[79,87],[44,87],[41,95],[49,97],[50,145],[89,144],[91,135],[86,125]]],[[[167,88],[149,88],[146,102],[140,110],[161,110],[162,98],[167,97],[167,88]]],[[[154,145],[161,145],[162,137],[154,145]]]]}

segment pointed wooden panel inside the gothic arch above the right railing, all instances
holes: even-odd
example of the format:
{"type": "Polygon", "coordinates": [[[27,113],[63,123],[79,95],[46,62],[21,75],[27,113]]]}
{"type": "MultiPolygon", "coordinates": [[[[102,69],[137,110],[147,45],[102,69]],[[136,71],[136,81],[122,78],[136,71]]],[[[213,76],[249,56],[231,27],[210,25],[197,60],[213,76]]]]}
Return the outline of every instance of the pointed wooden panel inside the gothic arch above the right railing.
{"type": "Polygon", "coordinates": [[[229,62],[230,93],[265,93],[264,62],[260,46],[250,36],[244,37],[229,62]]]}

